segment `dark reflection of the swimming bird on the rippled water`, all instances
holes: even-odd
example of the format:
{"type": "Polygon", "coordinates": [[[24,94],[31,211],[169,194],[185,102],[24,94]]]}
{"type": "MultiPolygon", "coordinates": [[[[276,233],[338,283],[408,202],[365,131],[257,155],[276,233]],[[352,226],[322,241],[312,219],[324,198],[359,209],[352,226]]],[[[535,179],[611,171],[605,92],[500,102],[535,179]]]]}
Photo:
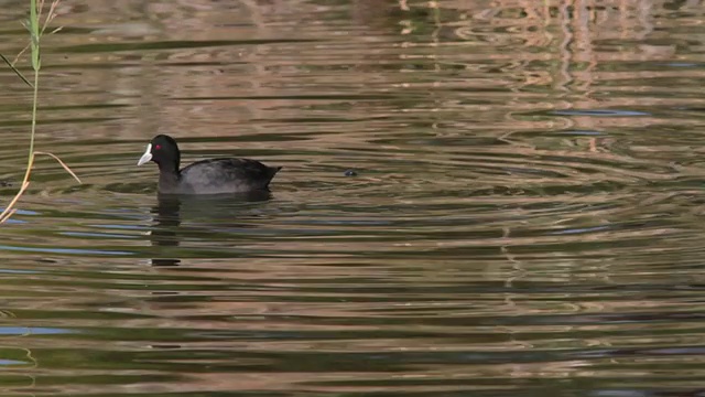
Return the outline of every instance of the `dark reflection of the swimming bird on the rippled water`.
{"type": "MultiPolygon", "coordinates": [[[[150,232],[152,247],[159,247],[159,253],[178,253],[184,237],[182,230],[182,213],[195,215],[203,227],[208,227],[208,218],[218,221],[224,218],[237,219],[238,203],[265,202],[271,198],[269,191],[256,191],[238,195],[182,196],[158,195],[156,205],[152,207],[153,225],[150,232]],[[180,233],[181,232],[181,233],[180,233]]],[[[189,216],[191,217],[191,216],[189,216]]],[[[252,227],[251,224],[237,225],[252,227]]],[[[152,266],[178,266],[180,258],[152,258],[152,266]]]]}

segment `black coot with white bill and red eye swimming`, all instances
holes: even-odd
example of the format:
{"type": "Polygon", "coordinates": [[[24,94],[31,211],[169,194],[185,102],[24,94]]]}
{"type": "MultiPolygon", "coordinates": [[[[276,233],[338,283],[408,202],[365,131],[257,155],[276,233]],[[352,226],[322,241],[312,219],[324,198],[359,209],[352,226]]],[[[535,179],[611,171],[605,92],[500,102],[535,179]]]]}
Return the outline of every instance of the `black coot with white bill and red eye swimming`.
{"type": "Polygon", "coordinates": [[[137,162],[159,165],[159,192],[162,194],[224,194],[269,190],[281,167],[267,167],[250,159],[219,158],[196,161],[178,170],[181,151],[176,141],[158,135],[137,162]]]}

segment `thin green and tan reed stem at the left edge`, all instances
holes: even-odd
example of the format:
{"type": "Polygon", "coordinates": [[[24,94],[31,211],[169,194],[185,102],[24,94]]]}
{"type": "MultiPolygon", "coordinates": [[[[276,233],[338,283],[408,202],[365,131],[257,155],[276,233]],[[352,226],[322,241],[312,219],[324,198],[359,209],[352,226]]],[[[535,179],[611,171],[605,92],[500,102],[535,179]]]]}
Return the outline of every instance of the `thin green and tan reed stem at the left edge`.
{"type": "MultiPolygon", "coordinates": [[[[12,198],[10,204],[8,204],[4,211],[0,213],[0,223],[6,222],[10,216],[12,216],[12,214],[14,214],[14,212],[17,211],[13,208],[14,204],[20,198],[20,196],[22,196],[22,193],[24,193],[26,187],[30,185],[30,174],[32,173],[32,165],[34,164],[35,154],[46,154],[46,155],[53,157],[54,159],[56,159],[56,161],[58,161],[59,164],[62,164],[62,167],[68,173],[70,173],[76,179],[76,181],[78,181],[78,183],[80,183],[80,180],[78,179],[78,176],[76,176],[76,174],[74,174],[74,172],[70,171],[70,169],[68,169],[68,167],[64,164],[64,162],[61,161],[56,155],[52,153],[39,152],[34,150],[34,135],[36,131],[36,105],[39,99],[40,69],[42,67],[42,58],[40,56],[40,42],[46,31],[46,26],[48,26],[48,23],[56,17],[56,7],[58,6],[59,2],[61,0],[52,1],[48,12],[46,13],[46,18],[44,18],[44,21],[42,22],[41,20],[42,20],[42,12],[44,11],[44,0],[39,0],[39,4],[36,0],[30,0],[30,19],[28,22],[24,23],[24,28],[26,28],[26,30],[30,32],[30,44],[28,44],[28,46],[24,47],[24,50],[22,50],[18,54],[14,62],[10,62],[7,57],[4,57],[3,55],[0,55],[2,57],[2,61],[4,61],[8,64],[8,66],[10,66],[12,71],[20,78],[22,78],[22,81],[26,85],[29,85],[34,92],[34,95],[32,97],[32,129],[30,132],[30,149],[29,149],[29,155],[28,155],[26,170],[24,172],[24,180],[22,180],[22,185],[20,186],[20,191],[18,192],[18,194],[15,194],[15,196],[12,198]],[[26,77],[24,77],[24,75],[22,75],[22,72],[20,72],[14,66],[17,61],[20,58],[22,53],[26,51],[26,49],[31,50],[30,52],[32,57],[32,68],[34,69],[34,83],[30,83],[30,81],[26,77]]],[[[51,33],[55,33],[59,29],[55,29],[51,33]]]]}

